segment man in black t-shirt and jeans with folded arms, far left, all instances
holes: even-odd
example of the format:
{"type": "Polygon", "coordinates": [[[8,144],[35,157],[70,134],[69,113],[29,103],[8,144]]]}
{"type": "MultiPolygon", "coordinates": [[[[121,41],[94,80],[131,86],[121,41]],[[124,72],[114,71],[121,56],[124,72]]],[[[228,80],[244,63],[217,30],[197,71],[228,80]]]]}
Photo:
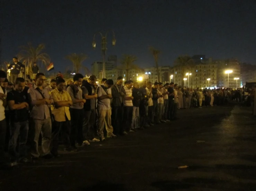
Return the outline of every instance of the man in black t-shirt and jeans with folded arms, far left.
{"type": "Polygon", "coordinates": [[[8,92],[7,103],[10,109],[10,142],[9,154],[11,166],[17,166],[17,162],[29,162],[26,159],[26,142],[28,137],[28,93],[24,91],[25,79],[17,78],[15,81],[15,90],[8,92]],[[17,143],[19,137],[19,142],[17,143]],[[16,151],[16,145],[19,145],[19,153],[16,151]]]}

